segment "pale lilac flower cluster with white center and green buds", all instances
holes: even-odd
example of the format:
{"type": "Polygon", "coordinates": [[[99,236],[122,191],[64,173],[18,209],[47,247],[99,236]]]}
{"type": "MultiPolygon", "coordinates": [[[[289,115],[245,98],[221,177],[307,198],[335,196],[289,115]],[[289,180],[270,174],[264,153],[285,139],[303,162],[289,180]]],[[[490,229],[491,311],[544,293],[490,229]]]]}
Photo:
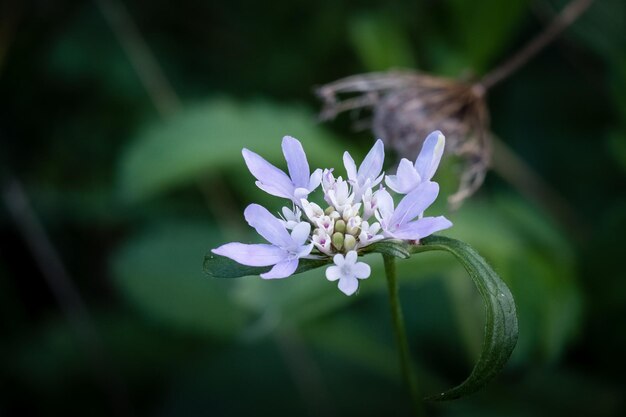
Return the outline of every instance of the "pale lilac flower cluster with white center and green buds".
{"type": "Polygon", "coordinates": [[[269,243],[227,243],[213,253],[248,266],[272,266],[262,278],[285,278],[298,268],[302,258],[332,258],[334,265],[326,278],[339,281],[339,289],[352,295],[358,280],[368,278],[370,267],[358,262],[358,254],[368,245],[384,239],[419,241],[452,226],[443,216],[424,217],[437,198],[439,185],[432,181],[443,154],[445,138],[431,133],[415,162],[402,159],[396,175],[382,172],[385,150],[376,141],[358,169],[348,152],[343,155],[347,178],[335,176],[332,169],[311,173],[300,142],[285,136],[283,154],[289,174],[256,153],[244,149],[243,157],[256,185],[263,191],[291,201],[275,217],[258,204],[249,205],[244,216],[269,243]],[[398,205],[383,186],[404,195],[398,205]],[[309,196],[321,185],[324,203],[309,196]],[[374,191],[375,190],[375,191],[374,191]]]}

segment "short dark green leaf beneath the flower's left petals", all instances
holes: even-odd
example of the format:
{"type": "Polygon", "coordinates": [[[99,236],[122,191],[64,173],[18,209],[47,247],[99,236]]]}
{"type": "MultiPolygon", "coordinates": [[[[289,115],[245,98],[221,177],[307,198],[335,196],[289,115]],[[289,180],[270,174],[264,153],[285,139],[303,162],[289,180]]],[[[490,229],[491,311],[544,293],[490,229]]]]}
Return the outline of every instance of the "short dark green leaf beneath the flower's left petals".
{"type": "MultiPolygon", "coordinates": [[[[325,259],[300,259],[295,274],[319,268],[330,262],[325,259]]],[[[225,256],[215,255],[211,252],[204,257],[204,272],[213,278],[240,278],[249,275],[261,275],[272,269],[271,266],[247,266],[233,261],[225,256]]]]}

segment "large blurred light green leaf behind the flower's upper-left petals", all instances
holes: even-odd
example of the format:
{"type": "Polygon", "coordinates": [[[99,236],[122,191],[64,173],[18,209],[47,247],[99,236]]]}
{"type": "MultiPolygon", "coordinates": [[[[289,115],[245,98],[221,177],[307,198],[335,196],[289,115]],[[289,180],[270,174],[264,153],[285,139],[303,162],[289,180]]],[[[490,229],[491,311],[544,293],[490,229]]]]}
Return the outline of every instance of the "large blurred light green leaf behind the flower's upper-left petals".
{"type": "Polygon", "coordinates": [[[123,154],[118,184],[124,198],[136,201],[220,169],[245,170],[244,147],[283,166],[280,141],[284,135],[303,143],[311,168],[341,158],[343,150],[337,140],[315,123],[312,113],[268,102],[238,104],[216,99],[190,106],[143,130],[123,154]]]}

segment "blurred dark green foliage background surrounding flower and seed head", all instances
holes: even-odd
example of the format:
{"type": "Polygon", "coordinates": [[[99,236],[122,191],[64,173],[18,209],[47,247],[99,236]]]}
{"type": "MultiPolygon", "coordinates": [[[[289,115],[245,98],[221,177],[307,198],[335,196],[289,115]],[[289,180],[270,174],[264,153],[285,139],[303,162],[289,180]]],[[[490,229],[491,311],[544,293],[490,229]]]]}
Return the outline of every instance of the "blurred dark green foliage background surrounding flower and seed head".
{"type": "MultiPolygon", "coordinates": [[[[0,415],[408,415],[380,259],[350,298],[322,270],[203,274],[208,249],[258,241],[247,204],[281,203],[240,149],[284,165],[290,134],[342,171],[341,152],[362,157],[374,138],[350,116],[319,124],[314,86],[392,67],[480,76],[564,4],[0,3],[0,415]]],[[[624,415],[626,3],[596,1],[488,104],[551,194],[528,199],[510,179],[528,172],[490,172],[457,212],[431,209],[509,284],[520,339],[495,382],[429,411],[624,415]]],[[[435,393],[469,374],[482,306],[451,257],[399,267],[435,393]]]]}

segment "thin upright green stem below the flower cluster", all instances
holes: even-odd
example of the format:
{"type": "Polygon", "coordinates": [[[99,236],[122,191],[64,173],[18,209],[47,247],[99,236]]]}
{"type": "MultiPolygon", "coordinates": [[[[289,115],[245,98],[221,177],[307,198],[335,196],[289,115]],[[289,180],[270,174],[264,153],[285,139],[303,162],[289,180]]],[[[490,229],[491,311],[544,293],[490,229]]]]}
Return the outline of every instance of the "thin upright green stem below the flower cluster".
{"type": "Polygon", "coordinates": [[[417,380],[413,373],[411,354],[409,352],[409,343],[406,338],[406,330],[404,327],[404,318],[402,317],[402,307],[400,306],[400,297],[398,295],[398,278],[396,275],[396,261],[393,256],[383,254],[385,262],[385,274],[387,275],[387,288],[389,289],[389,304],[391,307],[391,320],[396,335],[396,344],[398,345],[398,353],[400,354],[400,369],[402,370],[402,378],[406,384],[413,409],[416,416],[423,415],[422,396],[419,392],[417,380]]]}

